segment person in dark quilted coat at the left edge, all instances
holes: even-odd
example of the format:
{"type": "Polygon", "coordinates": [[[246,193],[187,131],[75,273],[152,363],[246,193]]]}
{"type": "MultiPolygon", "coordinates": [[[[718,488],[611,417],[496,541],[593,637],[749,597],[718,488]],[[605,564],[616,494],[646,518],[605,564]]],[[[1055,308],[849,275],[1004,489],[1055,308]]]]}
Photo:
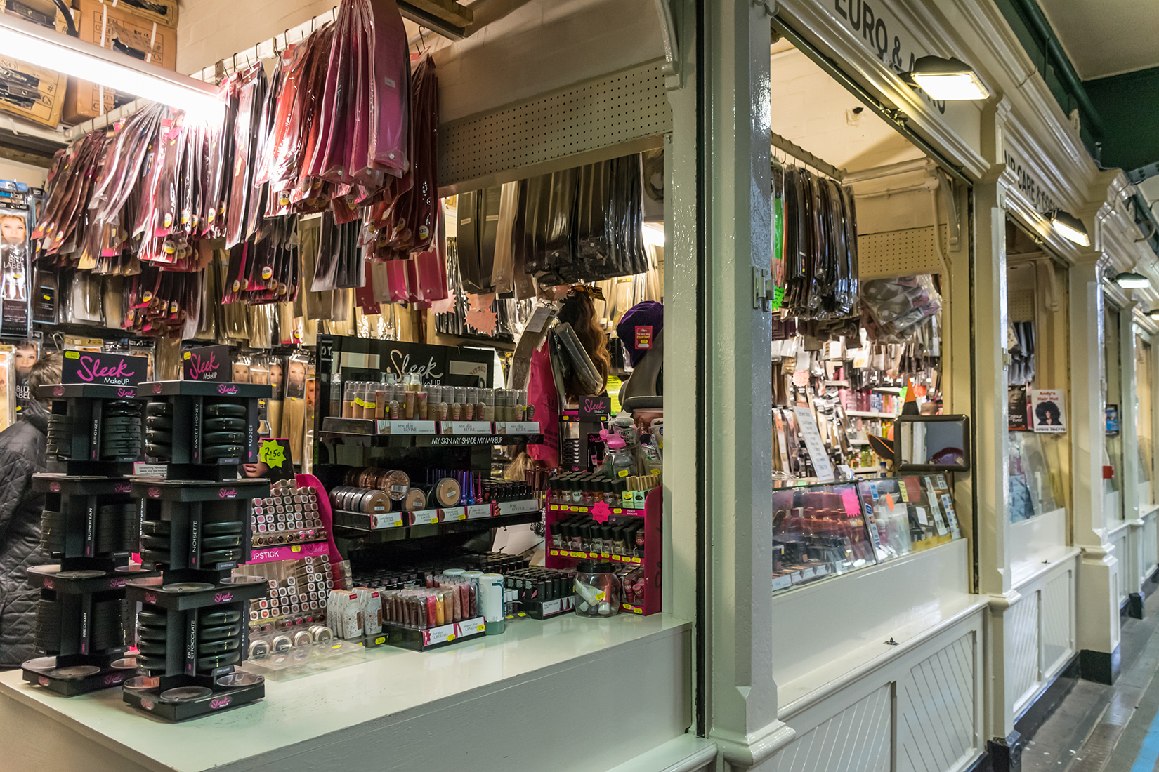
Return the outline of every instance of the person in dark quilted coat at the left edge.
{"type": "Polygon", "coordinates": [[[45,403],[35,399],[44,383],[60,383],[60,354],[32,366],[34,399],[21,420],[0,432],[0,668],[16,668],[36,656],[32,631],[39,590],[28,583],[29,566],[51,563],[41,549],[44,494],[32,492],[32,475],[45,471],[45,403]]]}

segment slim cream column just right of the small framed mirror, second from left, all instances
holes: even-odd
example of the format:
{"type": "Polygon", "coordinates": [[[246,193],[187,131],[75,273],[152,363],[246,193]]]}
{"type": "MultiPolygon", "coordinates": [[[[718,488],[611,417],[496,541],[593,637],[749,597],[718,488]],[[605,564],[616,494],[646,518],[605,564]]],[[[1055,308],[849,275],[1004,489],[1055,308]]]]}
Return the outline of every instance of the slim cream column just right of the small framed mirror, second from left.
{"type": "Polygon", "coordinates": [[[974,313],[974,425],[977,451],[970,475],[974,490],[975,535],[979,595],[989,596],[986,626],[985,727],[996,769],[1016,769],[1019,736],[1014,730],[1014,684],[1006,672],[1007,652],[1015,645],[1006,612],[1021,596],[1011,587],[1009,453],[1007,450],[1007,311],[1006,311],[1006,171],[1001,135],[1009,115],[1005,100],[983,113],[983,153],[989,174],[975,189],[976,256],[974,313]]]}

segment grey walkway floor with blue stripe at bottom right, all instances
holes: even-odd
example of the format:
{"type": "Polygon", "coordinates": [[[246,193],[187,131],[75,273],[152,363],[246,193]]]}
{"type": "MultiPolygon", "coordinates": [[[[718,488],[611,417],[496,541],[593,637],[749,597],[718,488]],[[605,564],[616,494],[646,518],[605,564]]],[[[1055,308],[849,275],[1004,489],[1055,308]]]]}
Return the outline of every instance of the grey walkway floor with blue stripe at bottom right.
{"type": "Polygon", "coordinates": [[[1149,772],[1159,769],[1159,593],[1122,633],[1114,686],[1079,681],[1022,751],[1025,772],[1149,772]]]}

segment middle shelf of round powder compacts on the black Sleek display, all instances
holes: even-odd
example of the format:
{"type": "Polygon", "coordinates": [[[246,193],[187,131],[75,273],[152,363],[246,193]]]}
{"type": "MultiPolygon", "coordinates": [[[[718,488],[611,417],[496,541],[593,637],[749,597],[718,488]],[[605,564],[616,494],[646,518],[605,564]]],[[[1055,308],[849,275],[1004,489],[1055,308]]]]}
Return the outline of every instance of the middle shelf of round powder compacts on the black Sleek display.
{"type": "Polygon", "coordinates": [[[531,485],[482,472],[427,469],[424,481],[399,469],[355,466],[330,490],[334,524],[357,530],[455,522],[539,512],[531,485]],[[432,506],[435,505],[435,506],[432,506]]]}

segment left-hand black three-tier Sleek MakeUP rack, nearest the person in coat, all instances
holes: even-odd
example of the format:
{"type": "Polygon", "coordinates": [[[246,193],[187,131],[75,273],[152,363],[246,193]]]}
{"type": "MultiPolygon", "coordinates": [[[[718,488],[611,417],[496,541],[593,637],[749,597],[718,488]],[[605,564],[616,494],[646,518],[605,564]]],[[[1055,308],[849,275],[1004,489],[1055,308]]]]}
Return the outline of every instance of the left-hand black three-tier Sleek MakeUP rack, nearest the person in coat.
{"type": "Polygon", "coordinates": [[[72,697],[119,685],[136,664],[125,655],[124,588],[152,575],[130,563],[139,514],[127,475],[137,456],[114,454],[102,440],[115,425],[138,436],[139,405],[132,387],[51,384],[38,396],[50,399],[57,444],[46,456],[51,472],[34,475],[32,490],[45,494],[43,550],[59,563],[28,569],[41,590],[35,634],[44,656],[21,669],[24,681],[72,697]]]}

